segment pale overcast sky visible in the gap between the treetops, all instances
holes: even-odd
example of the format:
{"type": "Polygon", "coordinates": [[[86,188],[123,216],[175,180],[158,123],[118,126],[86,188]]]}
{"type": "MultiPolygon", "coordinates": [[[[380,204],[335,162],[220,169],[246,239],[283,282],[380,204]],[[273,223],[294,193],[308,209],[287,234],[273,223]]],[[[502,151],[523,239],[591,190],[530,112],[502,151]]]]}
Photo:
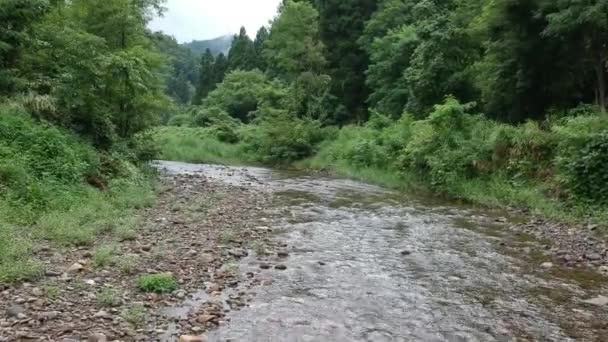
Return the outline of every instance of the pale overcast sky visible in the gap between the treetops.
{"type": "Polygon", "coordinates": [[[150,28],[175,36],[180,43],[238,33],[250,37],[274,18],[281,0],[167,0],[164,17],[150,28]]]}

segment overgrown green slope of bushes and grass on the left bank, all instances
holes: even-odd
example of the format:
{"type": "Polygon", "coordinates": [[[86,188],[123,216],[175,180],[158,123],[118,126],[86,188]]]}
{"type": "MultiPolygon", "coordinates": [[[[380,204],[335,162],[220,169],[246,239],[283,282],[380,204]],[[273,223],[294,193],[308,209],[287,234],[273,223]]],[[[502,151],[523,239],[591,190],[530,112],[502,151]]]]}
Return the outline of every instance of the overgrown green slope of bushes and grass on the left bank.
{"type": "Polygon", "coordinates": [[[135,238],[135,210],[154,200],[151,172],[0,106],[0,283],[43,274],[38,250],[135,238]]]}

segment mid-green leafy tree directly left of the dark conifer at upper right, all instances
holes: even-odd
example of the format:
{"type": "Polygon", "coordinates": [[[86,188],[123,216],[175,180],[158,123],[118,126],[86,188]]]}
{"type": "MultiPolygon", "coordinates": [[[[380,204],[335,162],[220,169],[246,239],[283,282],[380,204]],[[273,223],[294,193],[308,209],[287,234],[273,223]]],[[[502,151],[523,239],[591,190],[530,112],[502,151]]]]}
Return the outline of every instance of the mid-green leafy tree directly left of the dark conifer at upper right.
{"type": "Polygon", "coordinates": [[[476,12],[462,3],[422,0],[413,8],[418,44],[404,73],[411,113],[424,116],[448,95],[463,102],[476,99],[468,68],[479,60],[480,47],[467,30],[476,12]],[[463,9],[468,15],[461,17],[463,9]]]}

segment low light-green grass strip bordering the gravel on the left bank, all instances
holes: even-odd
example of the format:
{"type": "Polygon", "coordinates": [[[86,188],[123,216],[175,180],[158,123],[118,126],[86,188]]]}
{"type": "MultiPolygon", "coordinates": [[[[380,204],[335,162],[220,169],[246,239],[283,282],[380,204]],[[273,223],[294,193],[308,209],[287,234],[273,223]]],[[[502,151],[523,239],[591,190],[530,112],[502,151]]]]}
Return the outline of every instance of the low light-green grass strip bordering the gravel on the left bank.
{"type": "MultiPolygon", "coordinates": [[[[156,196],[150,180],[116,182],[107,192],[85,185],[57,190],[45,210],[0,198],[0,283],[41,276],[43,263],[33,250],[43,241],[57,247],[91,246],[100,235],[135,238],[135,210],[153,205],[156,196]]],[[[96,252],[98,267],[105,266],[106,254],[96,252]]]]}

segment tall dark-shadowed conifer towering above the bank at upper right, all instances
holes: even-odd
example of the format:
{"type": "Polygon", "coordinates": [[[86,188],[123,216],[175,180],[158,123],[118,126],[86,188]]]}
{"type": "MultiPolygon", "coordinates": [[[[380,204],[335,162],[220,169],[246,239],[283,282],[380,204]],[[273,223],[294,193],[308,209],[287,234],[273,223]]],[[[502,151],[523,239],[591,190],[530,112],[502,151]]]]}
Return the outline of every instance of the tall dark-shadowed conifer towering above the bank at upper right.
{"type": "Polygon", "coordinates": [[[495,0],[478,20],[485,40],[475,66],[485,111],[499,120],[521,122],[544,117],[550,108],[586,101],[588,69],[576,41],[544,34],[542,0],[495,0]]]}

